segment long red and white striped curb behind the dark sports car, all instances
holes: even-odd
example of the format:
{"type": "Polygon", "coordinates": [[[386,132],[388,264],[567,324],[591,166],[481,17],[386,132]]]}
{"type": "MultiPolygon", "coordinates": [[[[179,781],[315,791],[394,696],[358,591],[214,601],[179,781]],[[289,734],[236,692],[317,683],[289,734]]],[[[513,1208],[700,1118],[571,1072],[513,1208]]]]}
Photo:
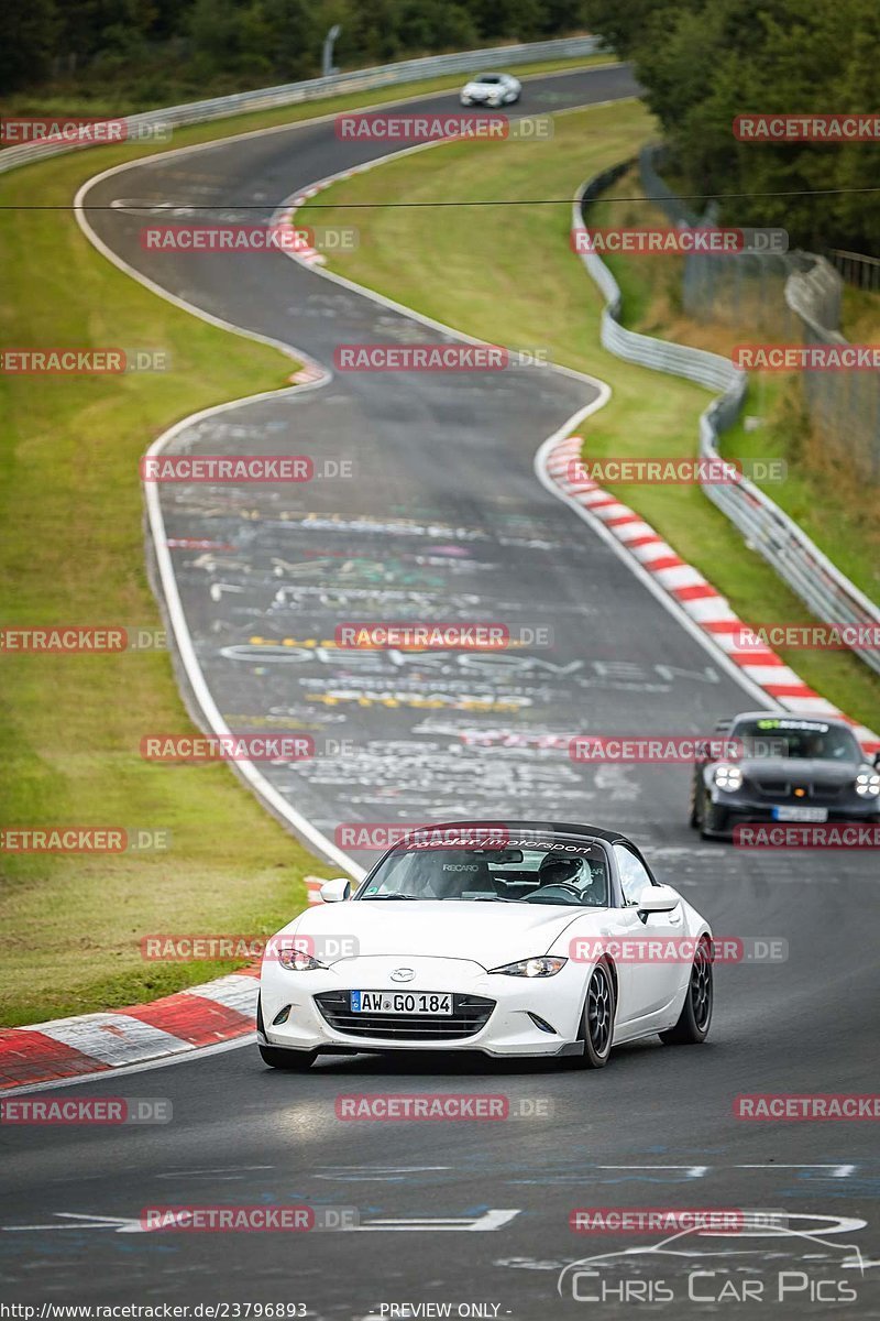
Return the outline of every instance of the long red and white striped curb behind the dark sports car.
{"type": "Polygon", "coordinates": [[[761,688],[773,703],[805,716],[834,716],[852,725],[865,752],[880,750],[880,736],[839,711],[765,646],[748,625],[734,613],[726,597],[703,575],[664,542],[640,514],[623,505],[591,478],[573,480],[569,474],[581,460],[582,436],[558,440],[544,456],[544,466],[554,485],[584,513],[602,524],[648,572],[727,659],[761,688]]]}

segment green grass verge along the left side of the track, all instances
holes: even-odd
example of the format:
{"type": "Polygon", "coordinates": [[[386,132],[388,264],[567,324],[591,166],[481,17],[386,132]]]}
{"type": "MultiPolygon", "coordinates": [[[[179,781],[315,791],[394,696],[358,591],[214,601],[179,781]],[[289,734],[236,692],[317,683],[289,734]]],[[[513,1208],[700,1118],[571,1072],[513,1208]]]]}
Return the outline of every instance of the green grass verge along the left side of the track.
{"type": "MultiPolygon", "coordinates": [[[[456,82],[243,115],[182,129],[172,145],[456,82]]],[[[284,354],[153,296],[80,234],[70,211],[79,185],[164,149],[96,148],[0,176],[0,205],[17,207],[0,211],[3,342],[150,346],[172,361],[165,374],[125,378],[0,376],[0,624],[157,626],[139,456],[177,419],[285,386],[293,370],[284,354]]],[[[227,972],[239,964],[144,963],[141,937],[270,933],[302,906],[303,873],[330,873],[227,768],[141,761],[142,733],[190,728],[166,655],[4,655],[0,667],[0,827],[172,835],[166,853],[140,857],[0,852],[0,1024],[113,1008],[227,972]]]]}

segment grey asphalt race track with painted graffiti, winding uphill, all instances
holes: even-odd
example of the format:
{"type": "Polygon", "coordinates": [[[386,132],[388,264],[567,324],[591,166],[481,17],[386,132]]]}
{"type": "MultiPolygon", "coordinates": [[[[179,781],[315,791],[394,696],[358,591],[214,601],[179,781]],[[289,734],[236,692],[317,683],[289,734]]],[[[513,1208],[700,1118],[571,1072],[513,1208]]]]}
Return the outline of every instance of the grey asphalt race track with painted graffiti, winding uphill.
{"type": "MultiPolygon", "coordinates": [[[[625,70],[596,70],[529,81],[521,108],[629,94],[625,70]]],[[[418,103],[455,106],[449,95],[418,103]]],[[[94,184],[88,222],[168,291],[321,363],[332,363],[340,342],[438,342],[442,334],[282,255],[185,258],[139,246],[136,213],[152,203],[194,205],[218,221],[267,218],[314,180],[385,151],[342,143],[323,123],[158,157],[94,184]]],[[[723,1316],[751,1281],[764,1314],[877,1313],[872,1125],[732,1114],[740,1092],[871,1090],[880,976],[869,855],[749,856],[699,844],[686,824],[686,769],[577,766],[542,746],[554,733],[699,733],[756,704],[536,481],[538,445],[594,395],[546,369],[336,374],[298,398],[243,404],[185,432],[174,449],[354,454],[358,464],[354,481],[293,490],[164,487],[169,538],[218,547],[174,551],[199,663],[232,728],[315,736],[322,756],[265,774],[331,836],[346,822],[462,815],[613,824],[718,935],[778,938],[788,958],[718,968],[705,1048],[639,1044],[598,1074],[359,1057],[297,1077],[264,1069],[248,1044],[49,1092],[164,1096],[173,1122],[3,1132],[0,1280],[9,1297],[302,1303],[313,1318],[394,1316],[389,1305],[405,1303],[450,1303],[453,1316],[478,1304],[484,1310],[471,1316],[586,1316],[590,1303],[573,1301],[570,1276],[557,1293],[559,1272],[640,1239],[575,1235],[570,1211],[674,1206],[784,1211],[790,1232],[686,1235],[670,1244],[676,1256],[643,1254],[624,1267],[611,1258],[577,1284],[581,1299],[607,1285],[594,1312],[641,1303],[650,1314],[723,1316]],[[315,646],[342,617],[376,612],[500,620],[549,629],[553,641],[521,654],[427,659],[315,646]],[[338,1120],[336,1096],[360,1091],[505,1094],[526,1115],[338,1120]],[[145,1206],[227,1202],[355,1209],[359,1229],[140,1231],[145,1206]],[[689,1281],[695,1268],[715,1273],[689,1281]],[[778,1301],[781,1272],[800,1275],[778,1301]],[[852,1291],[858,1301],[847,1301],[852,1291]]],[[[356,853],[363,864],[373,856],[356,853]]]]}

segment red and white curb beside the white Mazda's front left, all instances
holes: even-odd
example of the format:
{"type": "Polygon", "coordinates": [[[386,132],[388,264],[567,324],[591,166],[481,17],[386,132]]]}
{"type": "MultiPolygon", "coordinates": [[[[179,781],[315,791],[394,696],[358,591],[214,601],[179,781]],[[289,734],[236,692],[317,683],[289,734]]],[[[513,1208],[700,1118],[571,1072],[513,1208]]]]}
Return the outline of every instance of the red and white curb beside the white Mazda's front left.
{"type": "MultiPolygon", "coordinates": [[[[309,904],[321,904],[318,876],[305,877],[309,904]]],[[[110,1073],[181,1055],[253,1032],[259,966],[203,985],[106,1013],[51,1018],[0,1030],[0,1091],[110,1073]]]]}

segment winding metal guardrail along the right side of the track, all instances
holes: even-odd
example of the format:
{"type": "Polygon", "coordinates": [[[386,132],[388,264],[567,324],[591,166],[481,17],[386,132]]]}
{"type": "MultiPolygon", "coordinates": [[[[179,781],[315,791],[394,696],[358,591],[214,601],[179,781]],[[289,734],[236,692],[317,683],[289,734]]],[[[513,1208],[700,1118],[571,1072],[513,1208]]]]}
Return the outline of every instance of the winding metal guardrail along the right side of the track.
{"type": "MultiPolygon", "coordinates": [[[[574,202],[573,223],[584,223],[586,207],[631,166],[624,161],[604,170],[579,189],[574,202]]],[[[699,419],[699,454],[719,457],[719,436],[739,415],[745,396],[747,376],[728,358],[687,345],[654,339],[652,336],[627,330],[620,324],[621,295],[613,275],[595,252],[582,252],[581,260],[604,295],[600,338],[606,349],[627,362],[636,362],[654,371],[685,376],[710,390],[720,391],[718,399],[699,419]]],[[[772,564],[789,587],[826,624],[864,624],[880,627],[880,609],[851,583],[810,538],[774,505],[753,482],[703,483],[705,494],[743,532],[747,543],[772,564]]],[[[869,647],[854,649],[880,674],[880,653],[869,647]]]]}

